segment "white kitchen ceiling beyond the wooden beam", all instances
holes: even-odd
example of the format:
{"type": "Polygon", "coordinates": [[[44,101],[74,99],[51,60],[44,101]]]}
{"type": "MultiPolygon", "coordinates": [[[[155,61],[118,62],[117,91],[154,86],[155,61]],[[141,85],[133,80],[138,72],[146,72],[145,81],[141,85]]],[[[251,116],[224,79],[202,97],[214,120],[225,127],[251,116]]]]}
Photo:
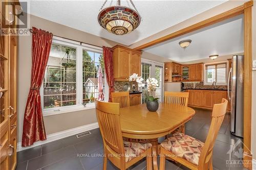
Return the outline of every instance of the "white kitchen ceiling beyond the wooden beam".
{"type": "Polygon", "coordinates": [[[220,56],[244,52],[243,15],[225,20],[213,26],[174,38],[145,48],[143,51],[165,57],[177,62],[206,59],[210,55],[220,56]],[[191,39],[183,50],[179,42],[191,39]]]}

